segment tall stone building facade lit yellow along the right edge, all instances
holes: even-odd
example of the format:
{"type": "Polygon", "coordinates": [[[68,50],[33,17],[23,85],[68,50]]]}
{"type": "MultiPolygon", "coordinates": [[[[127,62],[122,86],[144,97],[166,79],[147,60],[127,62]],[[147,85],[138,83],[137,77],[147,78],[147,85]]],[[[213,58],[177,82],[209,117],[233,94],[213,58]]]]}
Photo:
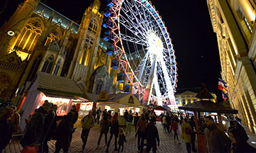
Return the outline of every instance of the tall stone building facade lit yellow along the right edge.
{"type": "Polygon", "coordinates": [[[255,2],[207,0],[230,106],[252,132],[256,132],[255,2]]]}

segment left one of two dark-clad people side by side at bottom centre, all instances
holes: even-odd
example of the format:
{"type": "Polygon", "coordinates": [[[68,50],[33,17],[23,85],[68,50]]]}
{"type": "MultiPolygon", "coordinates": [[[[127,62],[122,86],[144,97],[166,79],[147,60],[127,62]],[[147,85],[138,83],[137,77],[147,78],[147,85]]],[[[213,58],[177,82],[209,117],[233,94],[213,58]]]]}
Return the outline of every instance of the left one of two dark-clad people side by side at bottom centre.
{"type": "Polygon", "coordinates": [[[137,128],[138,128],[138,149],[137,151],[143,152],[144,140],[146,139],[146,124],[147,120],[145,115],[142,114],[141,118],[139,118],[137,128]]]}

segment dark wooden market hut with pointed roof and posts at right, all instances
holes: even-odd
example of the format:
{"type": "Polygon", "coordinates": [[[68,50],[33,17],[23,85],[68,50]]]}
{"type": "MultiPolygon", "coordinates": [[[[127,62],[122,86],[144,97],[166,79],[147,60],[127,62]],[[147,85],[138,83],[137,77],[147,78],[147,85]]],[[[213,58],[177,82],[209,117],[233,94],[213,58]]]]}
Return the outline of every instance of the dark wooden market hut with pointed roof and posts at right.
{"type": "MultiPolygon", "coordinates": [[[[218,126],[220,129],[223,129],[223,122],[221,118],[222,113],[238,113],[237,110],[230,108],[230,106],[223,106],[220,103],[214,103],[210,101],[210,98],[213,96],[206,89],[205,84],[202,84],[201,91],[196,95],[197,98],[200,98],[201,101],[195,101],[193,103],[188,103],[184,106],[178,107],[179,109],[185,111],[193,111],[195,123],[196,123],[196,134],[198,138],[198,152],[206,152],[206,141],[203,135],[203,126],[201,123],[201,112],[208,113],[217,113],[218,114],[218,126]]],[[[223,129],[224,130],[224,129],[223,129]]]]}

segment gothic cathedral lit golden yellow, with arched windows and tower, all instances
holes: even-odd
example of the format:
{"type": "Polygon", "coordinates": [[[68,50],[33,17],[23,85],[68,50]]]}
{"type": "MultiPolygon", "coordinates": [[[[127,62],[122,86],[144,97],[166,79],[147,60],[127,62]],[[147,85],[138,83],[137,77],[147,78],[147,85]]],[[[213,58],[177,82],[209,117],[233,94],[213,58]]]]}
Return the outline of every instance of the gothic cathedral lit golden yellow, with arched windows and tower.
{"type": "Polygon", "coordinates": [[[0,28],[0,98],[24,91],[37,72],[73,79],[85,93],[115,93],[117,69],[110,68],[109,42],[100,38],[99,8],[95,0],[78,24],[39,0],[19,4],[0,28]]]}

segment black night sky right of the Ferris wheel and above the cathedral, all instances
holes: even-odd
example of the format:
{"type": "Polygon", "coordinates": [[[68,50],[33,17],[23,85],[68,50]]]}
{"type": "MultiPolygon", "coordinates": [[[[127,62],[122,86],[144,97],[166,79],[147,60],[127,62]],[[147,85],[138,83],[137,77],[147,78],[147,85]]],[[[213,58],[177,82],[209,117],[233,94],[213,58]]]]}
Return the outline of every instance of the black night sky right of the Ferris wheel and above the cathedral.
{"type": "MultiPolygon", "coordinates": [[[[82,14],[92,2],[93,0],[47,0],[46,5],[80,23],[82,14]]],[[[100,10],[104,11],[107,0],[101,2],[100,10]]],[[[204,82],[208,90],[214,92],[218,100],[222,101],[218,90],[218,43],[213,33],[206,0],[151,0],[151,3],[162,16],[174,44],[178,63],[177,91],[200,87],[204,82]]]]}

